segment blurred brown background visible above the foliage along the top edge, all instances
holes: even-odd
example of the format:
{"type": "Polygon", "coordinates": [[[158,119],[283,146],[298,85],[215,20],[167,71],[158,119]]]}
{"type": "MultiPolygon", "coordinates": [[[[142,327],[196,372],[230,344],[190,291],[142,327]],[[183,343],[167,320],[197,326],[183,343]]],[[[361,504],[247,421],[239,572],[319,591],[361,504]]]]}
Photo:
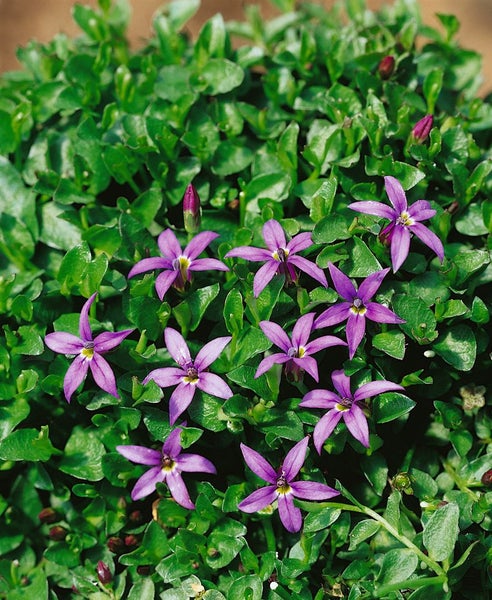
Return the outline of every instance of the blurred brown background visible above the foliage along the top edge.
{"type": "MultiPolygon", "coordinates": [[[[82,4],[96,5],[96,0],[79,0],[82,4]]],[[[332,4],[332,0],[318,0],[332,4]]],[[[368,0],[371,8],[388,4],[391,0],[368,0]]],[[[152,15],[163,0],[130,0],[133,16],[129,38],[138,47],[151,35],[152,15]]],[[[202,0],[202,6],[190,23],[196,33],[212,15],[221,12],[225,20],[240,19],[243,6],[253,0],[202,0]]],[[[257,0],[267,17],[273,13],[268,0],[257,0]]],[[[0,72],[17,69],[15,50],[30,39],[49,41],[56,33],[79,33],[71,19],[70,10],[75,0],[0,0],[0,72]]],[[[458,33],[460,44],[483,55],[483,92],[492,91],[492,0],[421,0],[425,23],[437,26],[436,13],[454,14],[461,23],[458,33]]]]}

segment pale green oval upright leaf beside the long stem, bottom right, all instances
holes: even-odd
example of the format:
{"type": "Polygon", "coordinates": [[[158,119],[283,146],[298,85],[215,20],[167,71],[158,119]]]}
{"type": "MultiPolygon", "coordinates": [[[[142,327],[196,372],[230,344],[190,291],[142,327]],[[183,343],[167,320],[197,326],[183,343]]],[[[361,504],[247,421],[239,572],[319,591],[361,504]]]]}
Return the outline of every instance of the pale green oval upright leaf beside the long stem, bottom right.
{"type": "Polygon", "coordinates": [[[425,524],[422,541],[433,560],[443,561],[451,556],[460,531],[459,517],[458,505],[449,502],[439,507],[425,524]]]}

